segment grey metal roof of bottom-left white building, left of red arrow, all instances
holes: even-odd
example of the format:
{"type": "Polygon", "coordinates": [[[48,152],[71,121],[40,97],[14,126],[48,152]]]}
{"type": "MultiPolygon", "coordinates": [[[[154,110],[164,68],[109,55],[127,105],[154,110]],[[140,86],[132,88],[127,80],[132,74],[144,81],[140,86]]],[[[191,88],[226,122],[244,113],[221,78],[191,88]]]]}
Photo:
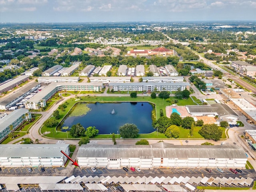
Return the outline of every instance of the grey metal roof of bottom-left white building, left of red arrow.
{"type": "Polygon", "coordinates": [[[69,144],[2,144],[0,157],[63,157],[69,144]]]}

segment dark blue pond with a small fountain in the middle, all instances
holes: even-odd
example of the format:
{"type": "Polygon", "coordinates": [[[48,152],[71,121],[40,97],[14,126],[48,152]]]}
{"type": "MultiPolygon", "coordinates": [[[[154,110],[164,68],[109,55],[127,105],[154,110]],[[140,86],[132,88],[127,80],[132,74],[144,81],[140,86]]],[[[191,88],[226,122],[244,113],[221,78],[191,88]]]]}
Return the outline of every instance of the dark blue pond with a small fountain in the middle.
{"type": "Polygon", "coordinates": [[[117,134],[120,126],[132,123],[138,127],[139,133],[155,131],[151,119],[153,107],[148,102],[83,103],[83,105],[90,110],[85,115],[68,116],[62,127],[71,128],[72,125],[80,123],[85,129],[95,126],[99,130],[99,134],[117,134]],[[113,110],[114,114],[112,114],[113,110]]]}

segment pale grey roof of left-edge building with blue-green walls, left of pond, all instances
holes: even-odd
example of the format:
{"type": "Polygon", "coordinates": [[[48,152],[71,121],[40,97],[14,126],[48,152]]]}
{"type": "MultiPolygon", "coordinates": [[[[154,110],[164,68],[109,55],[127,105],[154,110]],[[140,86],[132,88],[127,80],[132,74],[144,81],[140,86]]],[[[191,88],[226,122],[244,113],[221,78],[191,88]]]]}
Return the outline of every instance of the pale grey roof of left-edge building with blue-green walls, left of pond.
{"type": "MultiPolygon", "coordinates": [[[[2,132],[4,129],[6,129],[10,124],[12,124],[17,118],[20,116],[26,114],[28,112],[28,109],[20,108],[16,109],[7,116],[0,119],[0,132],[2,132]]],[[[0,145],[2,147],[4,145],[0,145]]],[[[13,146],[13,145],[12,145],[13,146]]],[[[0,148],[0,156],[2,155],[2,150],[0,148]]]]}

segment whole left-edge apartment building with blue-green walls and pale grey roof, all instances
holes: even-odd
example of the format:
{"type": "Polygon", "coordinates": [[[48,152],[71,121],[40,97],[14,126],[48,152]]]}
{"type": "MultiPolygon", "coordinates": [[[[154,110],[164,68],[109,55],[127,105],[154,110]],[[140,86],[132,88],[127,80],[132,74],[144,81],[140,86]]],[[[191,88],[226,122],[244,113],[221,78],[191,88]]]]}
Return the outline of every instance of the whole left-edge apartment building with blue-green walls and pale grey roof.
{"type": "MultiPolygon", "coordinates": [[[[4,140],[12,130],[15,130],[22,122],[31,119],[31,113],[24,108],[16,109],[0,119],[0,141],[4,140]]],[[[0,145],[2,146],[2,145],[0,145]]],[[[0,149],[0,155],[2,151],[0,149]]]]}

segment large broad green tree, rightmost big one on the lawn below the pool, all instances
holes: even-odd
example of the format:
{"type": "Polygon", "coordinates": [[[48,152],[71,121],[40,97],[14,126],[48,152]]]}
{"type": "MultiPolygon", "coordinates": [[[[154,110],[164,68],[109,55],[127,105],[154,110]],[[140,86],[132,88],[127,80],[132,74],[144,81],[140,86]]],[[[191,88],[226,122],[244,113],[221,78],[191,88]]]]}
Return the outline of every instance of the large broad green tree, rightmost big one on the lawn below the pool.
{"type": "Polygon", "coordinates": [[[218,141],[220,138],[222,138],[222,130],[218,128],[216,124],[205,124],[202,126],[202,129],[200,129],[198,133],[205,139],[218,141]]]}

